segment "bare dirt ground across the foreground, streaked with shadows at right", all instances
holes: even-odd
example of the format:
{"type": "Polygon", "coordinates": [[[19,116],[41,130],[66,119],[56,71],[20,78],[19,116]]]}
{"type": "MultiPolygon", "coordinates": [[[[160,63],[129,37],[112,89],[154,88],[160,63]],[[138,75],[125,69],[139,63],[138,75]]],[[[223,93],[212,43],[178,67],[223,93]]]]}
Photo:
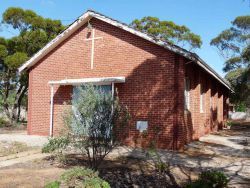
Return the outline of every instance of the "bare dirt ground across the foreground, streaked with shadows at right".
{"type": "MultiPolygon", "coordinates": [[[[112,187],[176,187],[197,178],[208,169],[223,171],[230,187],[250,185],[250,126],[233,126],[189,144],[183,152],[158,151],[169,171],[159,174],[155,158],[134,148],[118,148],[102,164],[100,177],[112,187]]],[[[51,158],[36,159],[0,168],[0,187],[44,187],[67,168],[79,165],[79,158],[70,156],[62,165],[51,158]]]]}

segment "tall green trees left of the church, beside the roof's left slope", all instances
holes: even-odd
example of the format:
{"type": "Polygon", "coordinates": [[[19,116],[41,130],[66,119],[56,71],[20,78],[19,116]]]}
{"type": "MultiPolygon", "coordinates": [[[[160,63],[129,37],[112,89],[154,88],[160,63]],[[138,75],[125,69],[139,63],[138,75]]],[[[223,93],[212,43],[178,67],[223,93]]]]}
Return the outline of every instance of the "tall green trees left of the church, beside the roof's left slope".
{"type": "MultiPolygon", "coordinates": [[[[32,10],[8,8],[2,16],[2,26],[12,27],[18,35],[0,38],[0,109],[11,122],[20,118],[21,105],[27,106],[28,74],[17,69],[65,27],[60,20],[37,15],[32,10]]],[[[3,28],[4,29],[4,28],[3,28]]]]}

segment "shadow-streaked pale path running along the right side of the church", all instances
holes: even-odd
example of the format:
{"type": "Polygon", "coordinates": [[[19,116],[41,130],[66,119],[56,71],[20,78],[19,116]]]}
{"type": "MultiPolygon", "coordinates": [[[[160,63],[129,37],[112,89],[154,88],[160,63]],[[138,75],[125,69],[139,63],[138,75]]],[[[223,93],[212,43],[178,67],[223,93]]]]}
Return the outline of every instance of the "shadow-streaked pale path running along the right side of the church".
{"type": "MultiPolygon", "coordinates": [[[[243,130],[226,130],[200,138],[186,146],[183,152],[158,150],[162,161],[180,172],[200,173],[204,170],[224,172],[230,179],[229,186],[249,188],[250,185],[250,126],[243,130]]],[[[128,156],[154,160],[141,149],[119,147],[109,154],[110,158],[128,156]]],[[[189,179],[192,173],[183,173],[189,179]]]]}

